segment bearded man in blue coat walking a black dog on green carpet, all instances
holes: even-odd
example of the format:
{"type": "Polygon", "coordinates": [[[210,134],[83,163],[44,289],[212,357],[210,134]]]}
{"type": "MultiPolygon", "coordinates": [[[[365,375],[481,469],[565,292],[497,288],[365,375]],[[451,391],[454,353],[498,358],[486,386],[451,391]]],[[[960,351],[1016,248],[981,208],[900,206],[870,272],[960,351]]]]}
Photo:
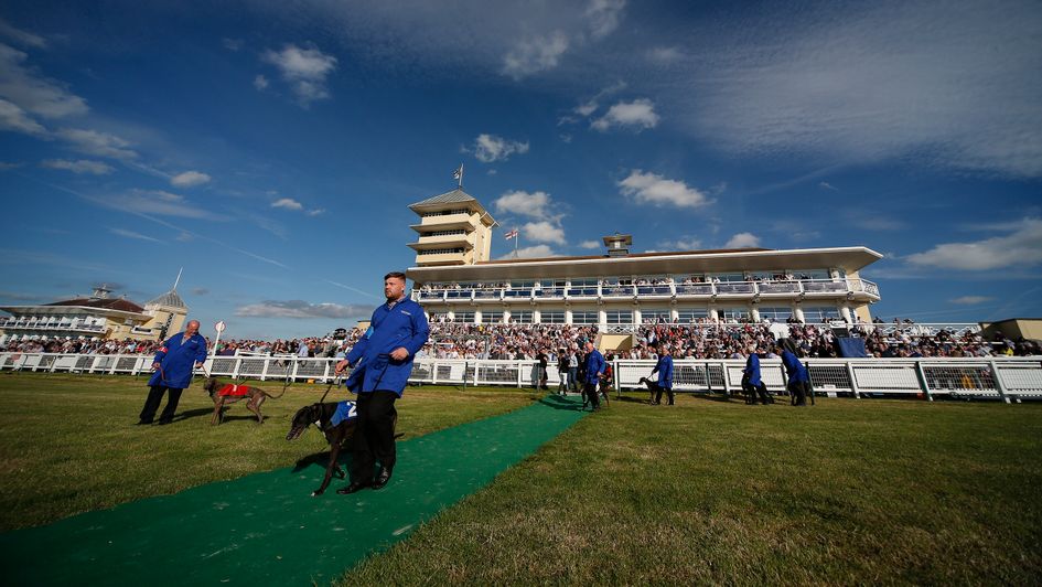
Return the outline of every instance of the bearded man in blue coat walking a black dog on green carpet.
{"type": "Polygon", "coordinates": [[[390,481],[395,469],[398,416],[395,401],[401,397],[412,373],[412,359],[430,334],[423,308],[408,299],[405,290],[405,274],[395,271],[384,276],[387,303],[376,308],[369,329],[336,364],[336,373],[347,365],[354,366],[347,377],[347,388],[358,394],[352,481],[336,490],[340,494],[367,487],[380,489],[390,481]],[[377,460],[380,469],[374,481],[373,467],[377,460]]]}

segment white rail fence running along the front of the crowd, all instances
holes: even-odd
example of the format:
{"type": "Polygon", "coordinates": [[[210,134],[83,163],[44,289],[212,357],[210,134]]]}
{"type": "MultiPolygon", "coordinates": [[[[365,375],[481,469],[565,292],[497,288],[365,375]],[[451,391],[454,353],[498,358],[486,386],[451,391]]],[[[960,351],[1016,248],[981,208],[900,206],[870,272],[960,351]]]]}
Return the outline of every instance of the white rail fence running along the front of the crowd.
{"type": "MultiPolygon", "coordinates": [[[[0,371],[44,373],[95,373],[143,375],[151,373],[153,355],[0,353],[0,371]]],[[[329,381],[335,359],[277,356],[214,356],[205,369],[214,375],[276,381],[329,381]]],[[[655,361],[616,360],[612,386],[643,388],[641,377],[651,376],[655,361]]],[[[816,393],[849,395],[913,395],[992,397],[1005,402],[1042,397],[1042,357],[987,359],[805,359],[816,393]]],[[[741,393],[744,361],[676,360],[674,391],[692,393],[741,393]]],[[[763,382],[781,392],[785,373],[781,361],[761,361],[763,382]]],[[[535,386],[535,361],[485,361],[417,359],[409,382],[431,385],[535,386]]],[[[547,370],[547,384],[557,388],[556,365],[547,370]]]]}

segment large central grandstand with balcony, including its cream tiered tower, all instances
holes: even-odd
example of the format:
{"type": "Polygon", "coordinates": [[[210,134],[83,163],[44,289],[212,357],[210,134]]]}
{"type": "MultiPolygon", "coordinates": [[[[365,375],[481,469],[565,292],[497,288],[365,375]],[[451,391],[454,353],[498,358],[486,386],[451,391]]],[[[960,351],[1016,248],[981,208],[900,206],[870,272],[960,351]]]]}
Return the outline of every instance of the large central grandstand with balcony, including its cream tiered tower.
{"type": "Polygon", "coordinates": [[[453,190],[409,207],[421,222],[407,275],[432,321],[619,333],[658,321],[856,323],[870,322],[880,299],[861,273],[882,255],[863,246],[631,253],[632,237],[615,234],[604,237],[603,255],[492,260],[496,223],[473,196],[453,190]],[[459,234],[433,236],[449,222],[459,234]]]}

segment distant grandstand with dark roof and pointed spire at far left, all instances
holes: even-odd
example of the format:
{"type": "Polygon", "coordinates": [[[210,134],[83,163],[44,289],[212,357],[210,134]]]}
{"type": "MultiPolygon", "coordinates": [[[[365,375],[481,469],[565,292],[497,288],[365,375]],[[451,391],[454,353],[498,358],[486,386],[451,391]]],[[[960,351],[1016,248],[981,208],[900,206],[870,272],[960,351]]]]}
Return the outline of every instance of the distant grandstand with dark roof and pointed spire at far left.
{"type": "Polygon", "coordinates": [[[144,307],[109,297],[105,286],[89,297],[37,306],[3,306],[10,317],[0,318],[0,337],[22,339],[68,337],[152,341],[179,332],[189,307],[178,295],[178,286],[148,301],[144,307]]]}

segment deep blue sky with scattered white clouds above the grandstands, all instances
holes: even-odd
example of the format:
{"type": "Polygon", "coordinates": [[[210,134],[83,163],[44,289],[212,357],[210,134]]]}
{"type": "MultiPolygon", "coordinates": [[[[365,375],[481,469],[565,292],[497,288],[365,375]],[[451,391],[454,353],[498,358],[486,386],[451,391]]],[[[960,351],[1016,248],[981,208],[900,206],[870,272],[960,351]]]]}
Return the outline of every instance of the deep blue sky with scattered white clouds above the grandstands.
{"type": "Polygon", "coordinates": [[[184,267],[208,335],[325,333],[463,163],[523,254],[866,245],[876,314],[1042,316],[1038,2],[214,4],[0,8],[0,303],[184,267]]]}

